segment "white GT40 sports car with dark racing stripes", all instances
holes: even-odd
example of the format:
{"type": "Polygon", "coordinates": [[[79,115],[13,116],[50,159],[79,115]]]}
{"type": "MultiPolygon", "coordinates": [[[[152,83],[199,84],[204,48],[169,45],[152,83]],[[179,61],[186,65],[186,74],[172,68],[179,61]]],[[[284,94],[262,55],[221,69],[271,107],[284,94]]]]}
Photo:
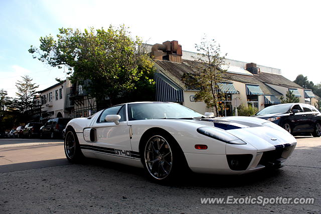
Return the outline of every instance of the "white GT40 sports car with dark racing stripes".
{"type": "Polygon", "coordinates": [[[71,120],[65,153],[73,162],[85,156],[144,167],[153,180],[165,182],[188,168],[215,174],[279,168],[296,145],[272,122],[206,115],[177,103],[116,105],[71,120]]]}

